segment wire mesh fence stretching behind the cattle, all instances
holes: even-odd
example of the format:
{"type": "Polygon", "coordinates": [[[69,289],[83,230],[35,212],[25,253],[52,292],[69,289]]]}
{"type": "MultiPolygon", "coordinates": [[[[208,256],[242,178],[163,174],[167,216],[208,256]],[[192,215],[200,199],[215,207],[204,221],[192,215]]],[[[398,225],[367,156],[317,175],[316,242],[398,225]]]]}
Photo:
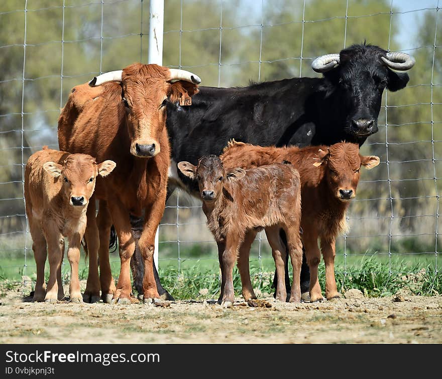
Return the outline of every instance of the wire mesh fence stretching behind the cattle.
{"type": "MultiPolygon", "coordinates": [[[[317,76],[310,63],[354,43],[379,45],[416,58],[410,82],[383,95],[379,131],[362,153],[379,167],[363,172],[347,215],[349,232],[337,241],[338,269],[351,274],[363,256],[413,257],[437,273],[442,153],[442,38],[438,0],[292,0],[165,2],[163,65],[197,73],[202,85],[317,76]]],[[[97,73],[147,63],[146,0],[13,0],[0,6],[0,246],[2,276],[32,277],[35,263],[24,211],[24,166],[43,145],[58,148],[57,118],[70,89],[97,73]]],[[[252,258],[263,273],[271,257],[259,234],[252,258]]],[[[216,245],[200,203],[176,192],[160,225],[161,269],[209,262],[216,245]]],[[[118,254],[112,255],[118,265],[118,254]]],[[[68,266],[68,265],[66,265],[68,266]]],[[[67,267],[66,267],[67,268],[67,267]]]]}

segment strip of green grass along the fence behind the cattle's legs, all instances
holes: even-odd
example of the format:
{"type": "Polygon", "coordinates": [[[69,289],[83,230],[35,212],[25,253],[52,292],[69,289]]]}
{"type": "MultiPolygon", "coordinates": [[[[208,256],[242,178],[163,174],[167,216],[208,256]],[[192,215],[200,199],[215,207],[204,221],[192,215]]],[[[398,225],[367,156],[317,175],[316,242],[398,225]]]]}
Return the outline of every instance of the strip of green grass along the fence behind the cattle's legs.
{"type": "MultiPolygon", "coordinates": [[[[164,288],[177,299],[217,298],[219,295],[219,265],[215,254],[207,255],[207,251],[199,247],[181,249],[181,258],[165,258],[160,260],[159,274],[164,288]],[[202,294],[200,290],[204,289],[202,294]],[[205,291],[206,289],[206,291],[205,291]]],[[[83,257],[83,255],[82,255],[83,257]]],[[[166,255],[167,257],[167,255],[166,255]]],[[[169,255],[170,257],[170,255],[169,255]]],[[[120,271],[118,253],[110,256],[114,277],[120,271]]],[[[0,254],[0,290],[16,288],[23,283],[23,276],[31,281],[36,280],[35,261],[28,255],[25,268],[24,256],[16,254],[0,254]]],[[[345,292],[350,288],[361,290],[366,296],[391,296],[400,290],[409,294],[432,296],[442,293],[442,273],[436,267],[442,266],[442,256],[433,254],[420,255],[343,255],[336,257],[336,281],[338,289],[345,292]]],[[[87,264],[80,260],[80,279],[87,278],[87,264]]],[[[271,288],[275,265],[271,254],[263,251],[262,258],[257,258],[253,251],[250,258],[250,273],[255,289],[263,293],[273,293],[271,288]]],[[[291,271],[291,270],[290,270],[291,271]]],[[[46,263],[46,278],[49,266],[46,263]]],[[[62,277],[67,283],[70,276],[69,262],[64,258],[62,277]]],[[[319,283],[325,289],[324,264],[319,265],[319,283]]],[[[234,270],[234,286],[237,294],[241,294],[241,281],[237,268],[234,270]]]]}

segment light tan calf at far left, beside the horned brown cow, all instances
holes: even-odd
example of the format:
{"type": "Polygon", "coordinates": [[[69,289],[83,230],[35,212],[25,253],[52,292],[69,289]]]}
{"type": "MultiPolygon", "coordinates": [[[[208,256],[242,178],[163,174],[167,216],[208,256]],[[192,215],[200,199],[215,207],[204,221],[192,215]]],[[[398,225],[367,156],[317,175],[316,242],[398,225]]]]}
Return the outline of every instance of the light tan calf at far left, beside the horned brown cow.
{"type": "Polygon", "coordinates": [[[25,169],[25,204],[33,240],[37,283],[34,301],[55,302],[64,297],[61,262],[64,237],[68,238],[67,257],[71,266],[70,301],[81,301],[78,281],[80,244],[86,228],[86,209],[97,175],[106,176],[115,162],[95,163],[87,154],[69,154],[46,146],[30,156],[25,169]],[[46,245],[49,255],[49,281],[45,286],[46,245]],[[58,296],[57,296],[58,295],[58,296]]]}

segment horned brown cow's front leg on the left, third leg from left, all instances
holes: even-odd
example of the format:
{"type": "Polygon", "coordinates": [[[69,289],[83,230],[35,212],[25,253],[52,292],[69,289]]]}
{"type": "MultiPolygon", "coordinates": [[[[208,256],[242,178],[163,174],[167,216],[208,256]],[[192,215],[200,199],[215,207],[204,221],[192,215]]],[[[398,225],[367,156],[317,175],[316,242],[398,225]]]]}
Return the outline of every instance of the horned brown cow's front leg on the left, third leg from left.
{"type": "MultiPolygon", "coordinates": [[[[109,207],[109,211],[111,212],[112,220],[114,221],[114,226],[117,231],[118,239],[120,241],[120,275],[118,278],[117,290],[115,291],[112,302],[118,302],[119,304],[128,304],[130,303],[130,297],[132,293],[130,264],[131,257],[134,254],[135,250],[135,241],[132,236],[131,222],[129,219],[129,213],[126,211],[123,204],[118,199],[108,201],[107,205],[109,207]]],[[[108,238],[109,236],[107,236],[107,241],[108,238]]],[[[107,246],[106,250],[108,250],[107,246]]],[[[107,261],[109,259],[108,256],[109,254],[107,251],[107,261]]]]}

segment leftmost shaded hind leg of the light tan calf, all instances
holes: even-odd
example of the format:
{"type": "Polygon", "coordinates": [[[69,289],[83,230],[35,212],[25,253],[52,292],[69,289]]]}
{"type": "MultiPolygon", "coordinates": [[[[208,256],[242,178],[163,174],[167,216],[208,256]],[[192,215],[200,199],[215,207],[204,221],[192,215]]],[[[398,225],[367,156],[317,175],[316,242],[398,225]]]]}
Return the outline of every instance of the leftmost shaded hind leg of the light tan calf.
{"type": "Polygon", "coordinates": [[[37,281],[35,283],[34,298],[32,301],[43,301],[46,295],[45,263],[46,263],[46,240],[41,228],[33,220],[29,220],[32,237],[32,250],[34,251],[37,265],[37,281]]]}

